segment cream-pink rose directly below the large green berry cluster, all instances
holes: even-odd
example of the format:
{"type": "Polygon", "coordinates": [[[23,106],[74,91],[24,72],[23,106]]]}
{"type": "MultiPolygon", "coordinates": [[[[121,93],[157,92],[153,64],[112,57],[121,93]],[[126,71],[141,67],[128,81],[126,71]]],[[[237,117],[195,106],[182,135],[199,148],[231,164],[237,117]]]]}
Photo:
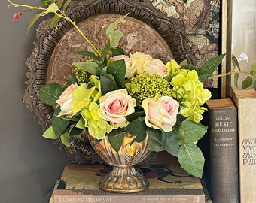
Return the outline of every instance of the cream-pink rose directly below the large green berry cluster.
{"type": "Polygon", "coordinates": [[[172,126],[177,120],[178,107],[178,102],[169,96],[157,95],[143,100],[146,125],[154,129],[163,129],[164,132],[172,131],[172,126]]]}

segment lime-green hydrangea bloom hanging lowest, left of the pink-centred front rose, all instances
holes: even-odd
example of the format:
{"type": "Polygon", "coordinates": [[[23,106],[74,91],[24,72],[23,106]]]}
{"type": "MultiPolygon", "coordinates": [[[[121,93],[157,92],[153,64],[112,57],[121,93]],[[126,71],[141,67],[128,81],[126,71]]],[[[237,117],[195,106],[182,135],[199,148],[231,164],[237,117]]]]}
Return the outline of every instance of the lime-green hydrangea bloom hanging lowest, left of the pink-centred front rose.
{"type": "Polygon", "coordinates": [[[99,117],[98,109],[99,105],[96,102],[90,102],[90,105],[81,111],[81,116],[84,119],[84,127],[88,128],[89,134],[97,139],[102,139],[113,128],[107,121],[99,117]]]}

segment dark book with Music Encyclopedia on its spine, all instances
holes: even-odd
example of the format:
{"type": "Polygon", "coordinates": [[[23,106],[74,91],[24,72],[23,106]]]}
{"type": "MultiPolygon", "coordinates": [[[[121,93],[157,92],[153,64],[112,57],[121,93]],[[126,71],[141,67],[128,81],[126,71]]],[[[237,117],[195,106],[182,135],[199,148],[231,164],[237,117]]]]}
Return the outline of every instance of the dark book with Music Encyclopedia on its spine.
{"type": "Polygon", "coordinates": [[[239,202],[237,109],[209,109],[213,203],[239,202]]]}

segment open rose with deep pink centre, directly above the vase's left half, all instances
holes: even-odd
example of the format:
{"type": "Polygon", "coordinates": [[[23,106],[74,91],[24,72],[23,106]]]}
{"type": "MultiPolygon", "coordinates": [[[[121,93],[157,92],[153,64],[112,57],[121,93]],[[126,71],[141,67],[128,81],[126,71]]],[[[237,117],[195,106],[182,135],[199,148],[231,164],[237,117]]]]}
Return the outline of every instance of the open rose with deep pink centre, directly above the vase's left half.
{"type": "Polygon", "coordinates": [[[119,89],[108,92],[99,98],[99,117],[110,121],[113,128],[125,127],[128,125],[126,116],[135,110],[136,99],[128,95],[126,89],[119,89]]]}

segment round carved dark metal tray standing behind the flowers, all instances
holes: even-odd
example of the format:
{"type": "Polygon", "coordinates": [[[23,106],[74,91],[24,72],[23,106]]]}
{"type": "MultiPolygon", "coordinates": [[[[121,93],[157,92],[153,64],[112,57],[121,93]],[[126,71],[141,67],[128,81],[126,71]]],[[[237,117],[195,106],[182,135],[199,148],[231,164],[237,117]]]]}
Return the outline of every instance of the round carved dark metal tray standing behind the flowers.
{"type": "MultiPolygon", "coordinates": [[[[169,58],[178,62],[184,59],[195,62],[187,47],[182,23],[166,17],[149,2],[74,0],[67,12],[96,47],[102,48],[106,43],[107,26],[129,13],[118,26],[124,34],[120,41],[124,50],[130,53],[143,51],[165,62],[169,58]]],[[[27,89],[23,95],[23,103],[38,119],[43,132],[50,126],[53,107],[39,100],[38,89],[46,83],[65,83],[72,74],[72,62],[84,60],[83,56],[73,52],[90,50],[89,45],[66,20],[59,21],[53,29],[49,25],[50,20],[43,20],[36,30],[35,48],[26,60],[29,71],[26,73],[27,89]]],[[[64,147],[59,141],[55,143],[66,150],[69,159],[74,162],[101,162],[88,141],[72,140],[71,148],[64,147]]],[[[154,159],[154,156],[155,153],[149,159],[154,159]]]]}

